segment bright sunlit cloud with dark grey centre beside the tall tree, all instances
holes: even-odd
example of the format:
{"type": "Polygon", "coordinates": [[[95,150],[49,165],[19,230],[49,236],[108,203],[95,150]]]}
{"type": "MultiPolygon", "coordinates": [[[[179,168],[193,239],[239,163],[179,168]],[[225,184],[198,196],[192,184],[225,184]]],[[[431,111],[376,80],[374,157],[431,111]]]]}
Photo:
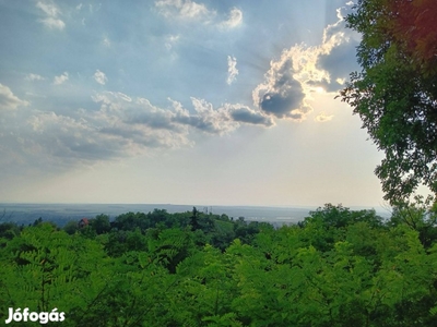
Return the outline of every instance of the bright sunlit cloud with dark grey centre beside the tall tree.
{"type": "MultiPolygon", "coordinates": [[[[324,62],[336,60],[338,48],[353,52],[357,43],[357,36],[345,29],[343,14],[338,10],[338,22],[324,28],[319,46],[295,45],[284,49],[279,60],[270,62],[264,82],[252,93],[253,104],[276,118],[302,121],[314,110],[309,101],[314,90],[338,92],[342,78],[346,77],[336,77],[332,81],[331,76],[335,76],[336,65],[329,66],[324,62]]],[[[352,71],[355,63],[352,62],[350,65],[347,63],[343,64],[347,71],[352,71]]],[[[329,120],[331,119],[332,117],[329,120]]]]}

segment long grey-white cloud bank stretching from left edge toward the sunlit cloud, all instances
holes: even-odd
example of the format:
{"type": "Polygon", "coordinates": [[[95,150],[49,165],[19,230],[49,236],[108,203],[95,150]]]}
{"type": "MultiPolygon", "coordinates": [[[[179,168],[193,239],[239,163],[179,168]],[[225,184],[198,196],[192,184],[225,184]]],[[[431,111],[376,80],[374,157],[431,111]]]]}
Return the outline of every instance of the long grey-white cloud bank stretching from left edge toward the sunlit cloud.
{"type": "MultiPolygon", "coordinates": [[[[119,92],[96,93],[92,100],[98,105],[97,110],[82,108],[59,113],[29,109],[16,111],[14,114],[20,114],[20,119],[4,116],[0,120],[3,128],[0,144],[3,142],[5,150],[11,153],[19,147],[20,156],[38,165],[68,169],[192,146],[194,133],[223,135],[243,124],[273,125],[270,117],[239,104],[214,108],[204,99],[191,98],[191,106],[186,109],[169,99],[170,106],[160,108],[145,98],[119,92]]],[[[27,105],[9,87],[0,85],[0,109],[27,105]]]]}

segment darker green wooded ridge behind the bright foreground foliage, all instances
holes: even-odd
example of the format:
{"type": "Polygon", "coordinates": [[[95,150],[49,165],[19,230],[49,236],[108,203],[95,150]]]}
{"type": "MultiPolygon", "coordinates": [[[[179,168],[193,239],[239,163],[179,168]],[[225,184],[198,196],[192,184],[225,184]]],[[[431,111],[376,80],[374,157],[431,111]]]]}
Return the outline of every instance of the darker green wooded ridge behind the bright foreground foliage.
{"type": "MultiPolygon", "coordinates": [[[[45,222],[43,218],[36,219],[28,227],[36,227],[45,222]]],[[[244,217],[234,219],[227,215],[213,215],[199,211],[196,207],[192,211],[169,214],[165,209],[154,209],[145,213],[127,213],[110,220],[108,215],[97,215],[95,218],[82,218],[62,221],[59,226],[57,220],[48,220],[47,223],[58,230],[61,229],[68,234],[81,233],[87,238],[95,238],[101,234],[109,234],[111,244],[117,240],[125,241],[132,232],[146,234],[151,229],[163,230],[177,228],[185,231],[192,231],[199,237],[200,245],[211,244],[224,250],[235,239],[249,243],[255,234],[261,229],[272,229],[273,225],[259,221],[246,221],[244,217]]],[[[0,237],[8,231],[21,231],[25,228],[23,223],[4,222],[0,225],[0,237]]]]}

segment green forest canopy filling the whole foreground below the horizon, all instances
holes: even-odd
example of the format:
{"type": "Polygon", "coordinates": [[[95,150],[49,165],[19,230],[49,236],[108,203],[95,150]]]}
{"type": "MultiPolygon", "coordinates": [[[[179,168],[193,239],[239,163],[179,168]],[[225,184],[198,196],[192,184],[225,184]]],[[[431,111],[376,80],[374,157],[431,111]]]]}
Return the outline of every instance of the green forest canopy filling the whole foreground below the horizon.
{"type": "Polygon", "coordinates": [[[327,204],[276,229],[196,208],[62,229],[2,222],[0,319],[28,307],[63,313],[62,326],[434,326],[437,206],[427,208],[382,219],[327,204]]]}

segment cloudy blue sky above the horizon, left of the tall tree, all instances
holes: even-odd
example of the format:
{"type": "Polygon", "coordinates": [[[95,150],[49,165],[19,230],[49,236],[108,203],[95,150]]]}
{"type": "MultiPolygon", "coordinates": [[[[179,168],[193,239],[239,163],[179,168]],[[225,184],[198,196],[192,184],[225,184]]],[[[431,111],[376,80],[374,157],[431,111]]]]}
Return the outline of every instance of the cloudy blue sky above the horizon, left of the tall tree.
{"type": "Polygon", "coordinates": [[[0,202],[381,206],[340,0],[0,0],[0,202]]]}

